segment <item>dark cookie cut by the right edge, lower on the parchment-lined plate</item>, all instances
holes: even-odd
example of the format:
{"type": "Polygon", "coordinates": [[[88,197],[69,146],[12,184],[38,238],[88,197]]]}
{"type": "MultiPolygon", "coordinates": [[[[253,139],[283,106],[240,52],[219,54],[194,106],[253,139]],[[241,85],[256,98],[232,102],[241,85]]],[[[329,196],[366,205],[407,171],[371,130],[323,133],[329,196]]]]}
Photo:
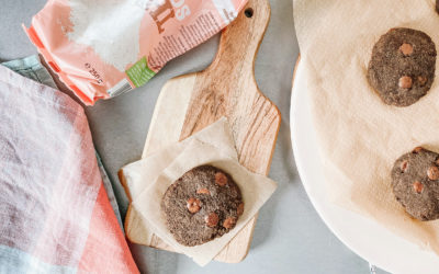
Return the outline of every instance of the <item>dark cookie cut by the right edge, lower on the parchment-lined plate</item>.
{"type": "Polygon", "coordinates": [[[405,210],[419,220],[439,218],[439,155],[421,147],[403,155],[392,169],[392,187],[405,210]]]}

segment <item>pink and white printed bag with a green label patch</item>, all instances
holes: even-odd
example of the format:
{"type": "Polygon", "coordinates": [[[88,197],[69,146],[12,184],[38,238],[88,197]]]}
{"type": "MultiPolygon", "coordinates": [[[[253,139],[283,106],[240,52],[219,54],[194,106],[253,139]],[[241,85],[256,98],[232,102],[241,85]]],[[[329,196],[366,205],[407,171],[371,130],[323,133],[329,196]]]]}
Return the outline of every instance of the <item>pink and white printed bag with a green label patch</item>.
{"type": "Polygon", "coordinates": [[[229,24],[247,0],[48,0],[26,33],[92,105],[145,84],[229,24]]]}

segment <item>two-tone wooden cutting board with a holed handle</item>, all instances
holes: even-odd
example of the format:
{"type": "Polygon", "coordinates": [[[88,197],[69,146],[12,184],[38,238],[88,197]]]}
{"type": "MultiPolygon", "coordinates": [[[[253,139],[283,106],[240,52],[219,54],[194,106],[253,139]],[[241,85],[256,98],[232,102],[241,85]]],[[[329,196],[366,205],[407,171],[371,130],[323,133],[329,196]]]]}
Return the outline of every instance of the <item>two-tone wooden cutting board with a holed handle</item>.
{"type": "MultiPolygon", "coordinates": [[[[268,0],[249,0],[238,18],[223,31],[212,65],[202,72],[168,81],[153,115],[143,157],[228,118],[240,163],[252,172],[268,174],[281,114],[258,89],[255,58],[270,19],[268,0]]],[[[124,180],[121,180],[124,184],[124,180]]],[[[130,187],[126,185],[128,197],[130,187]]],[[[236,263],[248,253],[255,216],[215,258],[236,263]]],[[[125,219],[128,239],[135,243],[173,251],[148,231],[139,213],[130,206],[125,219]]]]}

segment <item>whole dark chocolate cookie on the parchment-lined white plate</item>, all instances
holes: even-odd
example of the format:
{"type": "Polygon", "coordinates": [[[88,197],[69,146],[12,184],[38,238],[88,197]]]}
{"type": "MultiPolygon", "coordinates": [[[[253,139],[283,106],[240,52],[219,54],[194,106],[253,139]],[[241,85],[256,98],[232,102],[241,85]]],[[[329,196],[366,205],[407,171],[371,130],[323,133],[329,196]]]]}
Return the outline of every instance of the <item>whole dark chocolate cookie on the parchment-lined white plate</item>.
{"type": "Polygon", "coordinates": [[[372,50],[368,80],[384,103],[408,106],[427,94],[435,80],[436,46],[412,28],[392,28],[372,50]]]}

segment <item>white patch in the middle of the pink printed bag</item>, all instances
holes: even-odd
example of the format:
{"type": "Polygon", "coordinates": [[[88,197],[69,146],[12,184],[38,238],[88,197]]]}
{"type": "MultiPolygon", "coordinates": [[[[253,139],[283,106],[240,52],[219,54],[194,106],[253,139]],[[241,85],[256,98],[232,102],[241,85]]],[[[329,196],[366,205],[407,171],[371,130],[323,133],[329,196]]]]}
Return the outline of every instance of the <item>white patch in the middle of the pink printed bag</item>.
{"type": "Polygon", "coordinates": [[[70,0],[69,39],[90,46],[121,71],[139,59],[140,22],[164,0],[70,0]]]}

